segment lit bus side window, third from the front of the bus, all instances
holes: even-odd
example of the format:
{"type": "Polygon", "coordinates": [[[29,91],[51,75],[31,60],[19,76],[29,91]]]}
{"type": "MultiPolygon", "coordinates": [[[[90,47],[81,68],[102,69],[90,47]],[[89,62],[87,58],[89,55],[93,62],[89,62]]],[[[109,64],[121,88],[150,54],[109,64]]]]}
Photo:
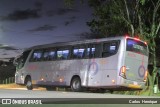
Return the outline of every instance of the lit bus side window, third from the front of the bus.
{"type": "Polygon", "coordinates": [[[68,59],[69,57],[69,50],[58,50],[57,51],[57,59],[68,59]]]}

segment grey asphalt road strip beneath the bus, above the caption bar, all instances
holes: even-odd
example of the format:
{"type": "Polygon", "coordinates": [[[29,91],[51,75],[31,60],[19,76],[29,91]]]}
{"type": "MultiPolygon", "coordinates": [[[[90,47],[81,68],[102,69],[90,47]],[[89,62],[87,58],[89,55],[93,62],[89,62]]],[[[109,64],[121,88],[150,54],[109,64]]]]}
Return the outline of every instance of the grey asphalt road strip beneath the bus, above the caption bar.
{"type": "Polygon", "coordinates": [[[118,95],[46,90],[0,89],[0,98],[148,98],[148,96],[118,95]]]}

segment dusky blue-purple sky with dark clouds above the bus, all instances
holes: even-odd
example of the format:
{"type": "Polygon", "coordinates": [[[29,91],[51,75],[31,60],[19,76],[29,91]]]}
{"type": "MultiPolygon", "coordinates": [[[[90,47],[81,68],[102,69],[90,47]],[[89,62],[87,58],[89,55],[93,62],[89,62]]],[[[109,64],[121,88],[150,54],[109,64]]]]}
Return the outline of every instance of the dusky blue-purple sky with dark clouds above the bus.
{"type": "Polygon", "coordinates": [[[80,39],[90,32],[92,10],[75,1],[68,9],[64,0],[0,0],[0,44],[27,48],[80,39]]]}

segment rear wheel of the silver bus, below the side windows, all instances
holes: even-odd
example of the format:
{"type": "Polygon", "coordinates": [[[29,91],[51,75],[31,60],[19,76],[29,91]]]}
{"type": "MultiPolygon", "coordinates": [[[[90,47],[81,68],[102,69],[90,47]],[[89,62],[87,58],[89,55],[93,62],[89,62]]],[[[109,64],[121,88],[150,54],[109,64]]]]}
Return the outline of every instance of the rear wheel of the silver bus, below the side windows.
{"type": "Polygon", "coordinates": [[[82,91],[81,80],[79,77],[75,77],[71,81],[71,90],[74,92],[82,91]]]}

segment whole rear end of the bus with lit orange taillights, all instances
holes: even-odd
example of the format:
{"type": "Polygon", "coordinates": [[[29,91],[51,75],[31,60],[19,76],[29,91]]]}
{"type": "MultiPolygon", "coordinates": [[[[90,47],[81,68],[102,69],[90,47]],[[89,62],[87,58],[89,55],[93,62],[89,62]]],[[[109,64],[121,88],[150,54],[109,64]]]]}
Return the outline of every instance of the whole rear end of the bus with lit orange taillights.
{"type": "Polygon", "coordinates": [[[131,37],[125,37],[124,43],[124,64],[119,71],[120,84],[132,89],[143,89],[147,79],[147,43],[131,37]]]}

